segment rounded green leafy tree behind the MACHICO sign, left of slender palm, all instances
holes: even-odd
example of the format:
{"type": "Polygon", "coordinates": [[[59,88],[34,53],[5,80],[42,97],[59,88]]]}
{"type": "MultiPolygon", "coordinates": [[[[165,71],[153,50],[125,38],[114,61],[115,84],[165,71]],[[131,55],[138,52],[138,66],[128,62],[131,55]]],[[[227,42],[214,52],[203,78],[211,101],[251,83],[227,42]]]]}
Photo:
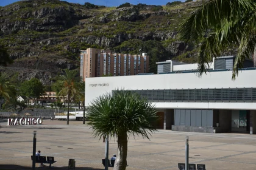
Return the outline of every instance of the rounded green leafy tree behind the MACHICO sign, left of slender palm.
{"type": "MultiPolygon", "coordinates": [[[[27,97],[27,104],[29,104],[29,98],[39,98],[40,95],[44,94],[44,86],[37,78],[24,81],[20,86],[21,95],[27,97]]],[[[35,102],[34,102],[35,103],[35,102]]]]}

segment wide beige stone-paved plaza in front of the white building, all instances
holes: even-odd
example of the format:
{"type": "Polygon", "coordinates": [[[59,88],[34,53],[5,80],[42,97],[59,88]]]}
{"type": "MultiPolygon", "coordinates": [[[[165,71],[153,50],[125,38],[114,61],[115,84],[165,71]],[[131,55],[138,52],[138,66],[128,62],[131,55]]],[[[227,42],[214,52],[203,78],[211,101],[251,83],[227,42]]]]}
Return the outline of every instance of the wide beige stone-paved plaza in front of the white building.
{"type": "MultiPolygon", "coordinates": [[[[76,160],[76,169],[104,169],[105,144],[94,138],[82,121],[50,121],[35,126],[5,126],[0,123],[0,169],[32,169],[33,131],[37,131],[37,150],[54,156],[52,169],[68,169],[68,160],[76,160]]],[[[206,165],[207,170],[256,169],[256,135],[202,134],[158,130],[151,140],[130,137],[126,169],[178,169],[185,163],[185,137],[190,137],[190,163],[206,165]]],[[[110,140],[109,157],[117,144],[110,140]]],[[[37,169],[48,169],[40,167],[37,169]]],[[[113,168],[109,168],[113,169],[113,168]]]]}

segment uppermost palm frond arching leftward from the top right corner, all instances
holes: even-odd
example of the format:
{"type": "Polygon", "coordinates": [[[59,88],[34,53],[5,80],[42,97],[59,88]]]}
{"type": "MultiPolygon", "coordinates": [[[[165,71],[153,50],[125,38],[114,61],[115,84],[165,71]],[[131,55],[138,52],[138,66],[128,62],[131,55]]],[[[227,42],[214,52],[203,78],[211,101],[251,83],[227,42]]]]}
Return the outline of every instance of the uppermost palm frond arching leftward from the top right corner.
{"type": "Polygon", "coordinates": [[[215,32],[223,21],[235,21],[244,15],[244,10],[255,10],[252,0],[211,0],[202,5],[190,17],[185,19],[178,31],[180,38],[201,41],[209,29],[215,32]]]}

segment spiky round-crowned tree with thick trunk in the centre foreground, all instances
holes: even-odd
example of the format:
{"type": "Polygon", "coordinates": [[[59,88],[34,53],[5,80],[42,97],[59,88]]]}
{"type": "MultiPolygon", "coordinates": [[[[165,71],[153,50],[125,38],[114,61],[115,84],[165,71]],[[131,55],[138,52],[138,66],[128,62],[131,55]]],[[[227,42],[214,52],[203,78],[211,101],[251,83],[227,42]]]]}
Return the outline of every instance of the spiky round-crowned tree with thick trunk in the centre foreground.
{"type": "Polygon", "coordinates": [[[118,142],[114,169],[126,169],[129,135],[149,135],[156,131],[157,110],[146,98],[129,90],[116,90],[112,95],[96,98],[88,109],[89,125],[94,137],[113,137],[118,142]]]}

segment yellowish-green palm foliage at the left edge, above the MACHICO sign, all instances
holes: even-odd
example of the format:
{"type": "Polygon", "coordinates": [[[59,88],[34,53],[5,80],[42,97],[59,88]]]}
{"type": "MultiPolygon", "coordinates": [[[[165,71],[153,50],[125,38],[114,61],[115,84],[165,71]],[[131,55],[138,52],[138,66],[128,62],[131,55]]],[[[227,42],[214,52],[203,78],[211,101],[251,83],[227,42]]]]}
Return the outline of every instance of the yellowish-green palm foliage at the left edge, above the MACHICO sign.
{"type": "Polygon", "coordinates": [[[7,101],[10,97],[15,96],[16,89],[10,84],[9,79],[5,73],[0,73],[0,97],[4,97],[7,101]]]}

